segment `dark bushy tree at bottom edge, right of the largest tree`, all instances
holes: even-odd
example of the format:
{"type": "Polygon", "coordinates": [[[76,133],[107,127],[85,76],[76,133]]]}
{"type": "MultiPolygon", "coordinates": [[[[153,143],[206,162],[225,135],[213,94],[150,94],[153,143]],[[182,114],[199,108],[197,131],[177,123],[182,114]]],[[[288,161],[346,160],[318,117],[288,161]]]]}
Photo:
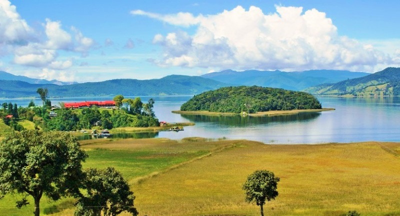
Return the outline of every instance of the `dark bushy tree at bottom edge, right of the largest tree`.
{"type": "Polygon", "coordinates": [[[100,216],[101,212],[104,216],[114,216],[122,211],[138,214],[133,206],[133,192],[115,168],[87,169],[82,185],[84,191],[75,204],[75,216],[100,216]]]}

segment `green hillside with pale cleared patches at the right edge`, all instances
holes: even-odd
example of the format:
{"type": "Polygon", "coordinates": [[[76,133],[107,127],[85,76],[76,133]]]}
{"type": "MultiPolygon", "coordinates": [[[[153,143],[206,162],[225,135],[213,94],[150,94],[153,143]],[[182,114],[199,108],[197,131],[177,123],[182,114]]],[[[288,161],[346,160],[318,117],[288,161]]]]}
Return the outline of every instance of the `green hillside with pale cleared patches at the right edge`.
{"type": "Polygon", "coordinates": [[[363,77],[309,87],[305,91],[320,95],[383,96],[400,95],[400,68],[387,67],[363,77]]]}

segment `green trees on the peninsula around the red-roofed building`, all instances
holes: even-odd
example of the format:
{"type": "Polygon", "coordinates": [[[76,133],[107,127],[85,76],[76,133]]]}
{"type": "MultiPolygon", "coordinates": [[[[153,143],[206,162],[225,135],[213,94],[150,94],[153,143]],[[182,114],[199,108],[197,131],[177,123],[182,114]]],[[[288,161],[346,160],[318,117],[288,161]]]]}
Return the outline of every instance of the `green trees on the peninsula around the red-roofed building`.
{"type": "MultiPolygon", "coordinates": [[[[96,106],[85,107],[81,109],[60,109],[53,110],[54,113],[50,117],[51,102],[46,99],[45,106],[37,107],[31,101],[31,106],[17,107],[17,104],[2,103],[0,109],[0,117],[3,121],[14,130],[22,130],[23,126],[18,124],[19,120],[32,121],[36,128],[47,130],[70,131],[79,130],[81,128],[90,129],[94,126],[104,129],[113,127],[147,127],[158,126],[159,122],[152,110],[154,100],[150,98],[147,103],[143,103],[140,97],[134,99],[115,96],[120,99],[120,109],[101,109],[96,106]],[[47,105],[47,101],[49,105],[47,105]],[[33,106],[32,106],[33,105],[33,106]],[[7,117],[12,115],[12,117],[7,117]]],[[[115,98],[114,97],[114,98],[115,98]]]]}

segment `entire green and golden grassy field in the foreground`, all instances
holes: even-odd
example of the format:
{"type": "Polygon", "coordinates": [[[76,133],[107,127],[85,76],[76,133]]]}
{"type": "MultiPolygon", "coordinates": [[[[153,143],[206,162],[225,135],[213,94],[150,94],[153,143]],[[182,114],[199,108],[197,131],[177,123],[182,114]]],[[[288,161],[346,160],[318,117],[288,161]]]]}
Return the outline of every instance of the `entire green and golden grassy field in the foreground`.
{"type": "MultiPolygon", "coordinates": [[[[328,216],[348,210],[400,215],[400,143],[270,145],[202,138],[81,143],[89,154],[85,167],[114,166],[128,179],[140,215],[259,215],[258,206],[244,202],[241,189],[256,169],[280,177],[279,195],[264,206],[265,215],[328,216]]],[[[4,207],[10,200],[0,201],[5,215],[26,215],[4,207]]],[[[47,213],[60,210],[52,215],[73,214],[71,199],[41,203],[47,213]]]]}

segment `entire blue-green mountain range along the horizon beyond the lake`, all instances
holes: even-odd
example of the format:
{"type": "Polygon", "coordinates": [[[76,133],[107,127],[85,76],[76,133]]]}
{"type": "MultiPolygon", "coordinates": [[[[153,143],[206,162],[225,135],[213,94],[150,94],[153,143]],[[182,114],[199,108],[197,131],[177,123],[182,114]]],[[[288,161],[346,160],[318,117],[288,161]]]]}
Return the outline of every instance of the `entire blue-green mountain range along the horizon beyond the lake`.
{"type": "Polygon", "coordinates": [[[400,68],[376,73],[347,70],[306,70],[298,72],[223,70],[201,76],[168,75],[160,79],[112,79],[66,84],[32,79],[0,71],[0,97],[38,97],[37,88],[48,89],[50,97],[132,95],[194,95],[224,86],[257,85],[313,94],[400,95],[400,68]],[[63,84],[63,85],[60,85],[63,84]]]}

